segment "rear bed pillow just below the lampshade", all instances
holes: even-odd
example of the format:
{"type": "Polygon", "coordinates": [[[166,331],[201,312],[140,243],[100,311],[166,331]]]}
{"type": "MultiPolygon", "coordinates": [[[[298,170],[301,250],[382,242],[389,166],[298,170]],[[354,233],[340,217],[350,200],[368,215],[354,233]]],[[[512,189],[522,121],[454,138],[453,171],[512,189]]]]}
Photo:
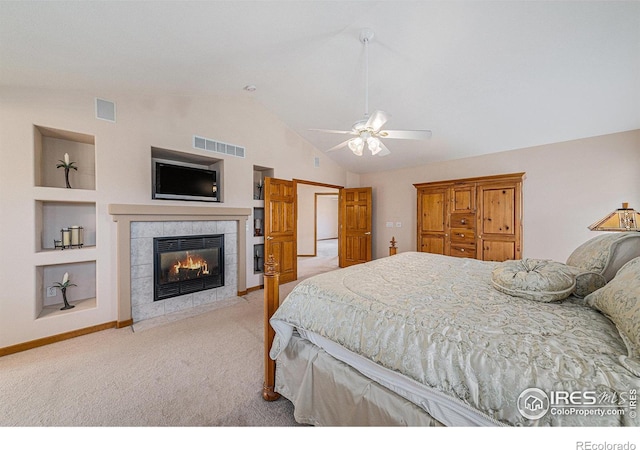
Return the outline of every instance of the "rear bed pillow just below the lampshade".
{"type": "Polygon", "coordinates": [[[611,281],[627,261],[640,256],[640,233],[606,233],[598,235],[576,248],[567,264],[587,272],[595,272],[611,281]]]}

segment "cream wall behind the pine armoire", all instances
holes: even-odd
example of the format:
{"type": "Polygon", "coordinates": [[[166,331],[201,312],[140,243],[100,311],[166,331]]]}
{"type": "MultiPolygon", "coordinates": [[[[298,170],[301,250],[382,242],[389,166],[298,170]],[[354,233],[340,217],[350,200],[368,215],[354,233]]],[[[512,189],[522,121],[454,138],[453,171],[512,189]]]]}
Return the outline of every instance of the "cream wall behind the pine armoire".
{"type": "Polygon", "coordinates": [[[416,249],[413,183],[516,172],[526,173],[523,257],[564,262],[596,236],[593,222],[622,202],[640,209],[640,130],[361,175],[373,187],[375,257],[388,255],[392,236],[398,251],[416,249]]]}

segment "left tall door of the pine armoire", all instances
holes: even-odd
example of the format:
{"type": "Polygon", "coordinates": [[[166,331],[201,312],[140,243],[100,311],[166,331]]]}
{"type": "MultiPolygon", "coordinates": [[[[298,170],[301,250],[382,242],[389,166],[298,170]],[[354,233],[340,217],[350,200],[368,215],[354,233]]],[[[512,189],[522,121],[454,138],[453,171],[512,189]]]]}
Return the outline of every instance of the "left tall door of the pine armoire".
{"type": "Polygon", "coordinates": [[[418,190],[418,251],[449,254],[449,188],[418,190]]]}

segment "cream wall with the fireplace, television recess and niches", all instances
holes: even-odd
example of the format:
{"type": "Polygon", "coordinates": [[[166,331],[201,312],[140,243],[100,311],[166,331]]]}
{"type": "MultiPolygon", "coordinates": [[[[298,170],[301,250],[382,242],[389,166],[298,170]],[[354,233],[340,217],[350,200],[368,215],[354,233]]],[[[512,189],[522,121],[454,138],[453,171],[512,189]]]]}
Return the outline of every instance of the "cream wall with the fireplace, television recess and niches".
{"type": "MultiPolygon", "coordinates": [[[[278,178],[338,186],[353,178],[248,93],[192,98],[0,88],[0,348],[116,319],[116,228],[107,207],[185,204],[151,200],[151,147],[191,152],[194,134],[246,148],[246,158],[212,155],[224,159],[220,206],[253,206],[254,165],[273,168],[278,178]],[[116,103],[116,123],[95,118],[95,97],[116,103]],[[35,320],[35,265],[46,257],[35,254],[35,199],[44,191],[34,188],[34,125],[95,136],[96,189],[87,198],[96,202],[96,248],[89,253],[97,260],[97,305],[53,320],[35,320]],[[320,158],[319,168],[314,157],[320,158]]],[[[251,230],[246,232],[251,242],[251,230]]]]}

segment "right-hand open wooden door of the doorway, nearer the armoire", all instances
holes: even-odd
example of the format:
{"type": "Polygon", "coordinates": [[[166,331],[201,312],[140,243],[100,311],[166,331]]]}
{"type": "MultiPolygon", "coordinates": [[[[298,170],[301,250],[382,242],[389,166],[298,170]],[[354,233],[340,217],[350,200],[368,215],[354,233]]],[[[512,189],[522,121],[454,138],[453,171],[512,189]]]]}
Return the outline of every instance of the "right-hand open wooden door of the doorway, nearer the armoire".
{"type": "Polygon", "coordinates": [[[338,212],[338,264],[352,266],[371,261],[370,187],[340,189],[338,212]]]}

